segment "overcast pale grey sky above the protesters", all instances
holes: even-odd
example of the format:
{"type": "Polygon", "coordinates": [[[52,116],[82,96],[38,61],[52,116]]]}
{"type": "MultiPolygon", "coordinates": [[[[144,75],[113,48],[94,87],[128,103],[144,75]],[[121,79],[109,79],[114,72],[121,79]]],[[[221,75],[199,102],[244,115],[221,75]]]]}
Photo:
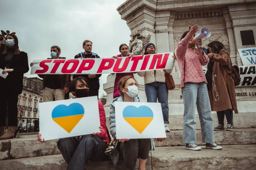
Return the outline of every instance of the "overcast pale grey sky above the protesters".
{"type": "MultiPolygon", "coordinates": [[[[33,59],[50,57],[50,47],[61,47],[61,57],[73,58],[91,40],[102,58],[119,54],[131,31],[116,11],[125,0],[0,0],[0,30],[16,32],[21,51],[33,59]]],[[[26,77],[30,75],[30,70],[26,77]]],[[[100,78],[99,96],[107,75],[100,78]]]]}

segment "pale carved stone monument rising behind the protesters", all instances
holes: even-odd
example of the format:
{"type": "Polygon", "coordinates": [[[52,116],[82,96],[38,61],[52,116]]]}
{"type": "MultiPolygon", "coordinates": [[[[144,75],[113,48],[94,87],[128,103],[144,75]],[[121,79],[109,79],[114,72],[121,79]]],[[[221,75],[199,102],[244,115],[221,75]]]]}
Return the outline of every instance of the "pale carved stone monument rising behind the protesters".
{"type": "MultiPolygon", "coordinates": [[[[256,40],[256,0],[127,0],[117,11],[131,30],[130,53],[135,55],[142,54],[145,43],[149,41],[156,45],[157,53],[173,52],[183,32],[188,31],[188,25],[195,24],[211,31],[211,37],[203,39],[203,46],[207,47],[214,40],[222,42],[230,52],[233,64],[242,65],[237,49],[255,47],[242,44],[240,31],[253,30],[256,40]]],[[[174,67],[172,76],[176,87],[180,88],[177,62],[174,67]]],[[[139,96],[146,102],[143,78],[137,74],[135,78],[140,84],[139,96]]],[[[114,79],[115,76],[108,76],[108,82],[104,84],[108,94],[106,114],[113,99],[114,79]]],[[[234,115],[235,127],[256,125],[256,95],[252,95],[255,92],[255,86],[236,87],[239,114],[234,115]]],[[[170,129],[182,129],[183,109],[181,91],[169,91],[170,129]]],[[[217,124],[216,113],[212,112],[212,117],[217,124]]]]}

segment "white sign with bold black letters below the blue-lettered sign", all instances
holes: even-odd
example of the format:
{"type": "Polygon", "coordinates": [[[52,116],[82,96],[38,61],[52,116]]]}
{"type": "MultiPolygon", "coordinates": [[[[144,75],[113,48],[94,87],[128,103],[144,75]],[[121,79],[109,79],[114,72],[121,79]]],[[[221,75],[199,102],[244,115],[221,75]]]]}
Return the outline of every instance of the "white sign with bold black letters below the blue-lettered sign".
{"type": "Polygon", "coordinates": [[[238,86],[256,86],[256,65],[240,66],[241,82],[238,86]]]}

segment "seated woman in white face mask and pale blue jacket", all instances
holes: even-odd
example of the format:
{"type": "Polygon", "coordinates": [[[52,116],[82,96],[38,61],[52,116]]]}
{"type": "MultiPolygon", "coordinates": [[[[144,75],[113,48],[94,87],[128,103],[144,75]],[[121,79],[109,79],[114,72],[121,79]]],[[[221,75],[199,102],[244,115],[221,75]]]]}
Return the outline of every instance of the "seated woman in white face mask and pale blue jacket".
{"type": "MultiPolygon", "coordinates": [[[[116,102],[140,102],[137,96],[139,90],[137,81],[131,76],[125,76],[118,83],[118,90],[121,96],[113,99],[110,107],[110,131],[113,138],[116,137],[116,102]]],[[[162,138],[157,139],[162,141],[162,138]]],[[[123,152],[125,164],[128,170],[135,170],[137,158],[140,160],[139,170],[145,170],[145,164],[148,159],[148,153],[154,149],[154,142],[151,139],[119,139],[123,142],[123,152]]],[[[120,147],[122,148],[122,147],[120,147]]]]}

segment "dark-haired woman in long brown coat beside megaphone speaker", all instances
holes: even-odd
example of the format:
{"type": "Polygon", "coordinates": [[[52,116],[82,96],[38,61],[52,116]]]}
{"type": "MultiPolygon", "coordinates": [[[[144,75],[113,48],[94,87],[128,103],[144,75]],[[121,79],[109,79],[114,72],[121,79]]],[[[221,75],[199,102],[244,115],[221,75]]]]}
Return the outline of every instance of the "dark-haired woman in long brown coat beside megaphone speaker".
{"type": "Polygon", "coordinates": [[[214,130],[224,129],[224,116],[227,118],[226,130],[234,130],[233,111],[238,113],[236,104],[235,83],[233,80],[232,62],[224,45],[213,41],[208,44],[210,62],[208,71],[212,72],[212,88],[208,89],[212,111],[217,111],[218,125],[214,130]]]}

